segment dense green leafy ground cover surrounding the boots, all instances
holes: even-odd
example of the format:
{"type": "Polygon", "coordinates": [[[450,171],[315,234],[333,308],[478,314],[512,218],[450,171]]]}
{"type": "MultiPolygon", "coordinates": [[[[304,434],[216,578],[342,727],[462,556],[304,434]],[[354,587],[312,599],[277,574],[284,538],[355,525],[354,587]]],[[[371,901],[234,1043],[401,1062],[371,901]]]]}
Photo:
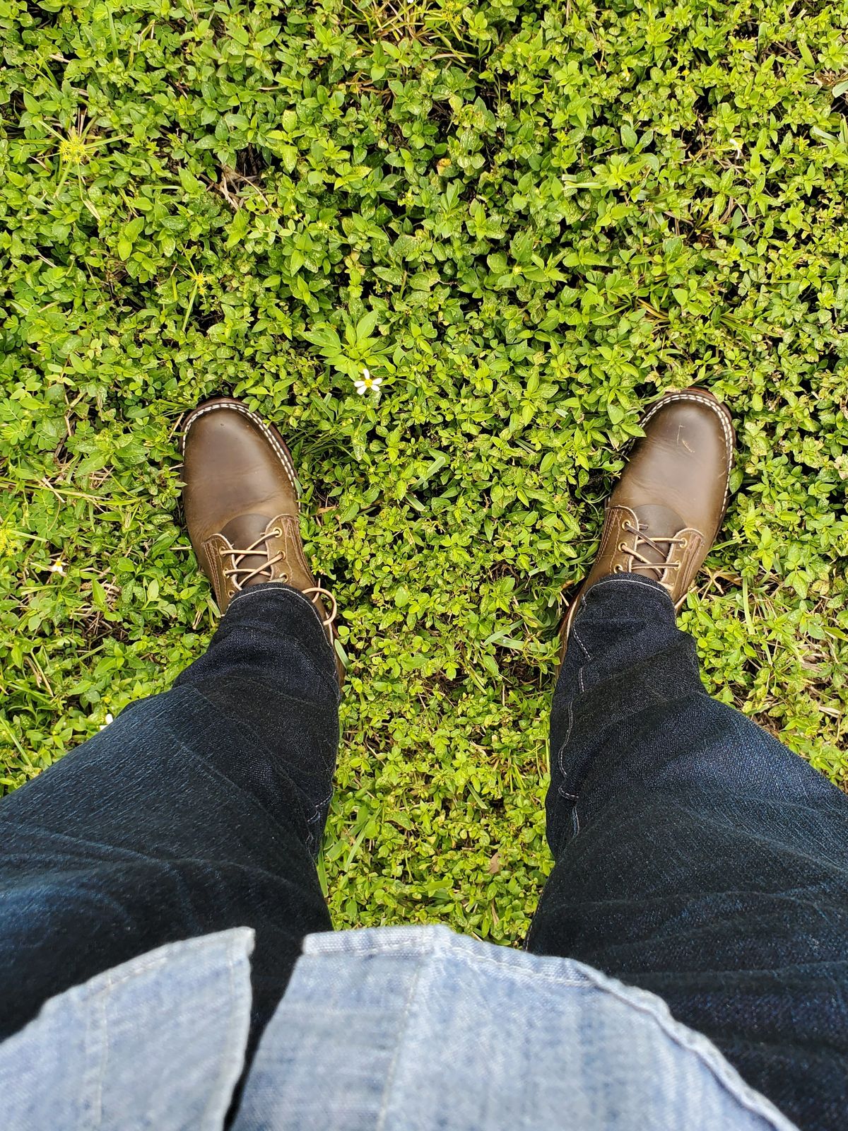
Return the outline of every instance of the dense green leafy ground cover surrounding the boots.
{"type": "Polygon", "coordinates": [[[739,456],[683,625],[846,787],[846,27],[0,0],[2,788],[208,640],[178,433],[232,392],[288,439],[341,608],[337,925],[517,942],[561,601],[641,412],[694,382],[739,456]]]}

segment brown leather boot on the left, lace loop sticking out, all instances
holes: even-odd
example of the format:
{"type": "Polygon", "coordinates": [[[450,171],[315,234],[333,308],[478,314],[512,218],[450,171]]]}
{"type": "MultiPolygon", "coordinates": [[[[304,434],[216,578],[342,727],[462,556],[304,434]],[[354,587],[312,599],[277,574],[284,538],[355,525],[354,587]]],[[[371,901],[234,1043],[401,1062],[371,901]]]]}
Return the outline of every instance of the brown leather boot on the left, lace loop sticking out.
{"type": "MultiPolygon", "coordinates": [[[[335,645],[336,601],[303,554],[294,464],[279,432],[240,400],[207,400],[185,420],[183,482],[191,545],[222,613],[248,586],[285,581],[312,599],[335,645]]],[[[336,666],[340,682],[338,653],[336,666]]]]}

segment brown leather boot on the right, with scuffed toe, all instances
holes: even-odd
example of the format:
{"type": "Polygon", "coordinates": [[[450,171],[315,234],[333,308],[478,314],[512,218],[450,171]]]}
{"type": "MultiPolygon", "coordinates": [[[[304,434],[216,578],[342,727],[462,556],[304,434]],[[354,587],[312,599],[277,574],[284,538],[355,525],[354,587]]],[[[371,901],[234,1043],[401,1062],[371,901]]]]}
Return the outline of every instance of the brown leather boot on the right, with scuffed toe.
{"type": "Polygon", "coordinates": [[[735,447],[727,408],[706,389],[667,392],[641,426],[606,507],[598,556],[563,621],[561,657],[581,596],[602,577],[649,577],[680,608],[721,526],[735,447]]]}

